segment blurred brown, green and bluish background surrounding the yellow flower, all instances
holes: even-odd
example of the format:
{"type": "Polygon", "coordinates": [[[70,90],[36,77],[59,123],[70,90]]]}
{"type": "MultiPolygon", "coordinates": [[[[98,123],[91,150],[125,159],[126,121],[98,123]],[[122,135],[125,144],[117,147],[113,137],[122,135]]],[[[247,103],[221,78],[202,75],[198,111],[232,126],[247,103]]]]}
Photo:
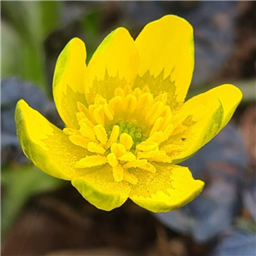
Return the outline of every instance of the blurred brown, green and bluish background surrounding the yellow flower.
{"type": "Polygon", "coordinates": [[[256,255],[256,2],[2,1],[0,82],[1,255],[256,255]],[[15,104],[24,98],[63,127],[52,101],[55,61],[73,37],[88,60],[118,26],[136,38],[149,21],[179,15],[195,29],[195,73],[188,98],[236,84],[243,100],[230,125],[190,160],[201,195],[153,214],[131,201],[103,212],[70,183],[45,175],[22,154],[15,104]]]}

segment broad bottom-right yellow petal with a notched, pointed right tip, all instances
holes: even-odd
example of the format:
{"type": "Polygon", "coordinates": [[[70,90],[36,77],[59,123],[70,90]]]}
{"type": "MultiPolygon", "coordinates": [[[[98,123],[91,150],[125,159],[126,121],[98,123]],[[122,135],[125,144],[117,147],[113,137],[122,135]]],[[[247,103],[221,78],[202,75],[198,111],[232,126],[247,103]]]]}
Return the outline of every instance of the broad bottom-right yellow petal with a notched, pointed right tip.
{"type": "Polygon", "coordinates": [[[201,193],[204,183],[195,180],[187,167],[154,165],[155,173],[134,170],[138,183],[131,189],[130,198],[151,212],[169,212],[183,207],[201,193]]]}

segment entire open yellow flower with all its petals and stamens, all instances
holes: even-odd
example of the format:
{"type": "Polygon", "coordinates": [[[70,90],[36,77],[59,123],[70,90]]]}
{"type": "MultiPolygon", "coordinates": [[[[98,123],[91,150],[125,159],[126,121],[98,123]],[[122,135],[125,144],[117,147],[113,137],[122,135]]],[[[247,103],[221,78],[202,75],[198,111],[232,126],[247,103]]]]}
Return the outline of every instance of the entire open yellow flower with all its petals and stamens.
{"type": "Polygon", "coordinates": [[[106,211],[128,197],[152,212],[193,200],[204,183],[177,163],[227,124],[241,91],[224,84],[184,102],[194,68],[193,29],[173,15],[149,23],[135,41],[119,27],[88,66],[85,58],[84,43],[73,38],[55,67],[62,131],[18,102],[17,134],[26,156],[106,211]]]}

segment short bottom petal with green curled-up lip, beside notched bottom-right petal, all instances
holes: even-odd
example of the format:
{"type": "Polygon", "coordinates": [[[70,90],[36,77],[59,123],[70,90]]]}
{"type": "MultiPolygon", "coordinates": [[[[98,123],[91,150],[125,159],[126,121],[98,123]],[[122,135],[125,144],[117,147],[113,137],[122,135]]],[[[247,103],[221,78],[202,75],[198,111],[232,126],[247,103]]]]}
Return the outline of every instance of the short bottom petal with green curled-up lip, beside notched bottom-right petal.
{"type": "Polygon", "coordinates": [[[112,167],[108,165],[97,172],[73,179],[72,184],[84,199],[105,211],[120,207],[131,191],[128,183],[113,180],[112,167]]]}

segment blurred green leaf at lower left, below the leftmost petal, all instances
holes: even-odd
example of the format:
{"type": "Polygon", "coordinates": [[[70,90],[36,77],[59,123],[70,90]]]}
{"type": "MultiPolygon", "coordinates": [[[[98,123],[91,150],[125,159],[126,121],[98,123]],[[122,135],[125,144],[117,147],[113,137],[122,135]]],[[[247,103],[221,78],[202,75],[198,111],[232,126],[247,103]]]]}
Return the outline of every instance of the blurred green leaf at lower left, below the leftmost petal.
{"type": "Polygon", "coordinates": [[[0,182],[3,186],[0,241],[3,241],[11,224],[32,195],[58,189],[67,183],[44,174],[31,164],[15,169],[4,168],[1,170],[0,182]]]}

